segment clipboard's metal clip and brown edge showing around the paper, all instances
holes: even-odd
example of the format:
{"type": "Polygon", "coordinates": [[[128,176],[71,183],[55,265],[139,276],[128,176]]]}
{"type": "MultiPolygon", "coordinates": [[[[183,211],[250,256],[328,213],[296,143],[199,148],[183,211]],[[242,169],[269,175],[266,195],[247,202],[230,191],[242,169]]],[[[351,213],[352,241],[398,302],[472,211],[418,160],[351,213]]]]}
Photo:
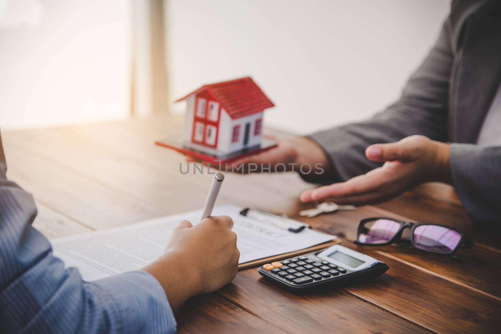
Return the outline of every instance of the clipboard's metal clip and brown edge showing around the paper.
{"type": "MultiPolygon", "coordinates": [[[[249,216],[249,211],[251,211],[249,208],[245,208],[242,211],[240,211],[240,214],[244,215],[244,216],[249,216]]],[[[284,224],[289,223],[293,228],[291,229],[287,225],[285,225],[284,228],[288,229],[289,231],[291,231],[291,233],[294,233],[293,230],[297,230],[297,228],[296,229],[294,229],[294,228],[298,227],[298,225],[300,225],[300,224],[306,225],[306,226],[309,227],[308,224],[306,224],[306,223],[304,223],[302,221],[299,221],[299,220],[295,220],[295,219],[291,219],[291,218],[287,218],[287,217],[275,215],[275,214],[272,214],[272,213],[269,213],[269,212],[265,212],[265,211],[261,211],[261,210],[257,210],[257,209],[256,210],[252,210],[252,211],[254,211],[253,212],[254,216],[252,216],[253,218],[258,218],[257,215],[261,214],[261,215],[263,215],[263,219],[266,219],[267,216],[273,216],[276,219],[279,219],[279,221],[282,220],[284,222],[284,224]]],[[[300,232],[300,230],[298,232],[300,232]]],[[[326,248],[326,247],[329,247],[329,246],[332,246],[332,245],[335,245],[335,244],[339,244],[339,243],[341,243],[341,239],[339,237],[335,236],[335,238],[332,239],[331,241],[322,242],[322,243],[319,243],[319,244],[316,244],[314,246],[307,247],[307,248],[304,248],[304,249],[299,249],[299,250],[291,251],[291,252],[288,252],[288,253],[277,254],[277,255],[273,255],[273,256],[259,258],[257,260],[253,260],[253,261],[247,261],[247,262],[244,262],[244,263],[240,263],[240,264],[238,264],[238,270],[244,269],[244,268],[248,268],[248,267],[257,266],[257,265],[261,265],[261,264],[264,264],[264,263],[278,261],[278,260],[281,260],[281,259],[284,259],[284,258],[294,257],[296,255],[301,255],[301,254],[304,254],[304,253],[309,253],[309,252],[312,252],[312,251],[315,251],[315,250],[321,250],[323,248],[326,248]]]]}

